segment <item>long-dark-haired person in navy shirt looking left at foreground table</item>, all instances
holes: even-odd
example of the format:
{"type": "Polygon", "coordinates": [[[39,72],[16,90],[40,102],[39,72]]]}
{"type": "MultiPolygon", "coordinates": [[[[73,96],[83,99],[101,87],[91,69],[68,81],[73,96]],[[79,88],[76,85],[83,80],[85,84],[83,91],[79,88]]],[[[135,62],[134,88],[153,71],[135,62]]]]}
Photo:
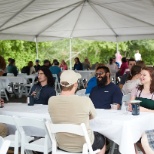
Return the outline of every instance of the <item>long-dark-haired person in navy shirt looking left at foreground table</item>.
{"type": "Polygon", "coordinates": [[[48,105],[48,99],[55,96],[54,78],[47,67],[40,67],[38,71],[38,83],[30,92],[30,103],[28,105],[43,104],[48,105]]]}

